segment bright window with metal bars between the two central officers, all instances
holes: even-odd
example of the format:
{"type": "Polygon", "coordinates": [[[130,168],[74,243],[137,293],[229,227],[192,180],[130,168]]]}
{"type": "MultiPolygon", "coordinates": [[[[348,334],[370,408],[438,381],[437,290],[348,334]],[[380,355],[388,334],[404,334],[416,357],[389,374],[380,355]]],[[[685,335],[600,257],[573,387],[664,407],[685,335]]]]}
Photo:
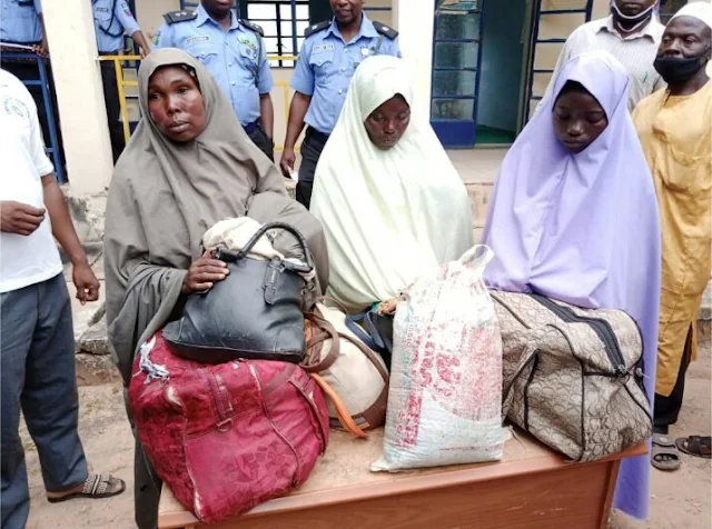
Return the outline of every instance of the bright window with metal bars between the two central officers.
{"type": "MultiPolygon", "coordinates": [[[[267,53],[296,56],[304,42],[304,31],[309,26],[308,0],[250,1],[247,18],[265,30],[267,53]]],[[[294,68],[293,59],[269,61],[273,67],[294,68]]]]}

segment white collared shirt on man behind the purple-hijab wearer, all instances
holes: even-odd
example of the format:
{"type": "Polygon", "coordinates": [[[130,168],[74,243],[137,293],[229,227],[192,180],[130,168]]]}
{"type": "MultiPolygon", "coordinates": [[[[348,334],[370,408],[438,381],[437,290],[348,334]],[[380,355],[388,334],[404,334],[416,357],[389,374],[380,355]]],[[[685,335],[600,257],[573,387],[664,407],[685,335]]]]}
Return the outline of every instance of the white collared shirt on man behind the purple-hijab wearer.
{"type": "Polygon", "coordinates": [[[621,61],[631,78],[627,108],[632,111],[642,99],[665,87],[653,67],[664,31],[656,17],[640,31],[625,37],[614,28],[613,17],[580,26],[566,39],[543,99],[554,90],[556,77],[570,59],[586,51],[607,51],[621,61]]]}

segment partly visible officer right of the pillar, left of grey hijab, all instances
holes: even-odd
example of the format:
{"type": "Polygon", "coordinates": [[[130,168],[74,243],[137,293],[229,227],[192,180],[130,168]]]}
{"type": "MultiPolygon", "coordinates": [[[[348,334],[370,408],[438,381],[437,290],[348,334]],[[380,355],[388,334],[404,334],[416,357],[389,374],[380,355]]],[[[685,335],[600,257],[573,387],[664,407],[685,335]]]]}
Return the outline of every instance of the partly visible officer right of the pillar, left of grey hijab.
{"type": "MultiPolygon", "coordinates": [[[[97,49],[100,56],[116,56],[123,51],[125,33],[139,46],[141,57],[146,57],[146,53],[150,51],[126,0],[91,0],[91,9],[93,11],[93,29],[97,34],[97,49]]],[[[101,61],[101,82],[107,118],[109,119],[111,151],[113,163],[116,163],[123,150],[125,140],[123,127],[120,121],[119,87],[113,61],[101,61]]]]}

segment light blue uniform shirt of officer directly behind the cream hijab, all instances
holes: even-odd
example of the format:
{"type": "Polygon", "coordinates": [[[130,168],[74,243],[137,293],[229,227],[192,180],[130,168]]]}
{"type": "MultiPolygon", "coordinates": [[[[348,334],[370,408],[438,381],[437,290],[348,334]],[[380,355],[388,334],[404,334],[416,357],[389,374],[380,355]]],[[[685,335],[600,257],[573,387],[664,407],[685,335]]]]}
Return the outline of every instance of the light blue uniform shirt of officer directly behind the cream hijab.
{"type": "Polygon", "coordinates": [[[400,50],[396,40],[380,34],[365,14],[350,42],[344,41],[335,19],[305,39],[291,88],[312,97],[304,119],[308,126],[325,134],[334,131],[356,68],[373,54],[400,57],[400,50]]]}

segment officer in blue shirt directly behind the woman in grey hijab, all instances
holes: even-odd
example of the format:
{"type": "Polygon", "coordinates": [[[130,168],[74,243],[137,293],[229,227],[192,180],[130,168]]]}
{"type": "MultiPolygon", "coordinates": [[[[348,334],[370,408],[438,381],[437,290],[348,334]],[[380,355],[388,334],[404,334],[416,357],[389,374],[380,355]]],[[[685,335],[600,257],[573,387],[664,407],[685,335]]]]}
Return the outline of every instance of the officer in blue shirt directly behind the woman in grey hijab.
{"type": "Polygon", "coordinates": [[[253,142],[274,161],[274,87],[263,29],[238,19],[235,0],[202,0],[195,11],[164,16],[157,48],[180,48],[205,64],[228,96],[253,142]]]}

